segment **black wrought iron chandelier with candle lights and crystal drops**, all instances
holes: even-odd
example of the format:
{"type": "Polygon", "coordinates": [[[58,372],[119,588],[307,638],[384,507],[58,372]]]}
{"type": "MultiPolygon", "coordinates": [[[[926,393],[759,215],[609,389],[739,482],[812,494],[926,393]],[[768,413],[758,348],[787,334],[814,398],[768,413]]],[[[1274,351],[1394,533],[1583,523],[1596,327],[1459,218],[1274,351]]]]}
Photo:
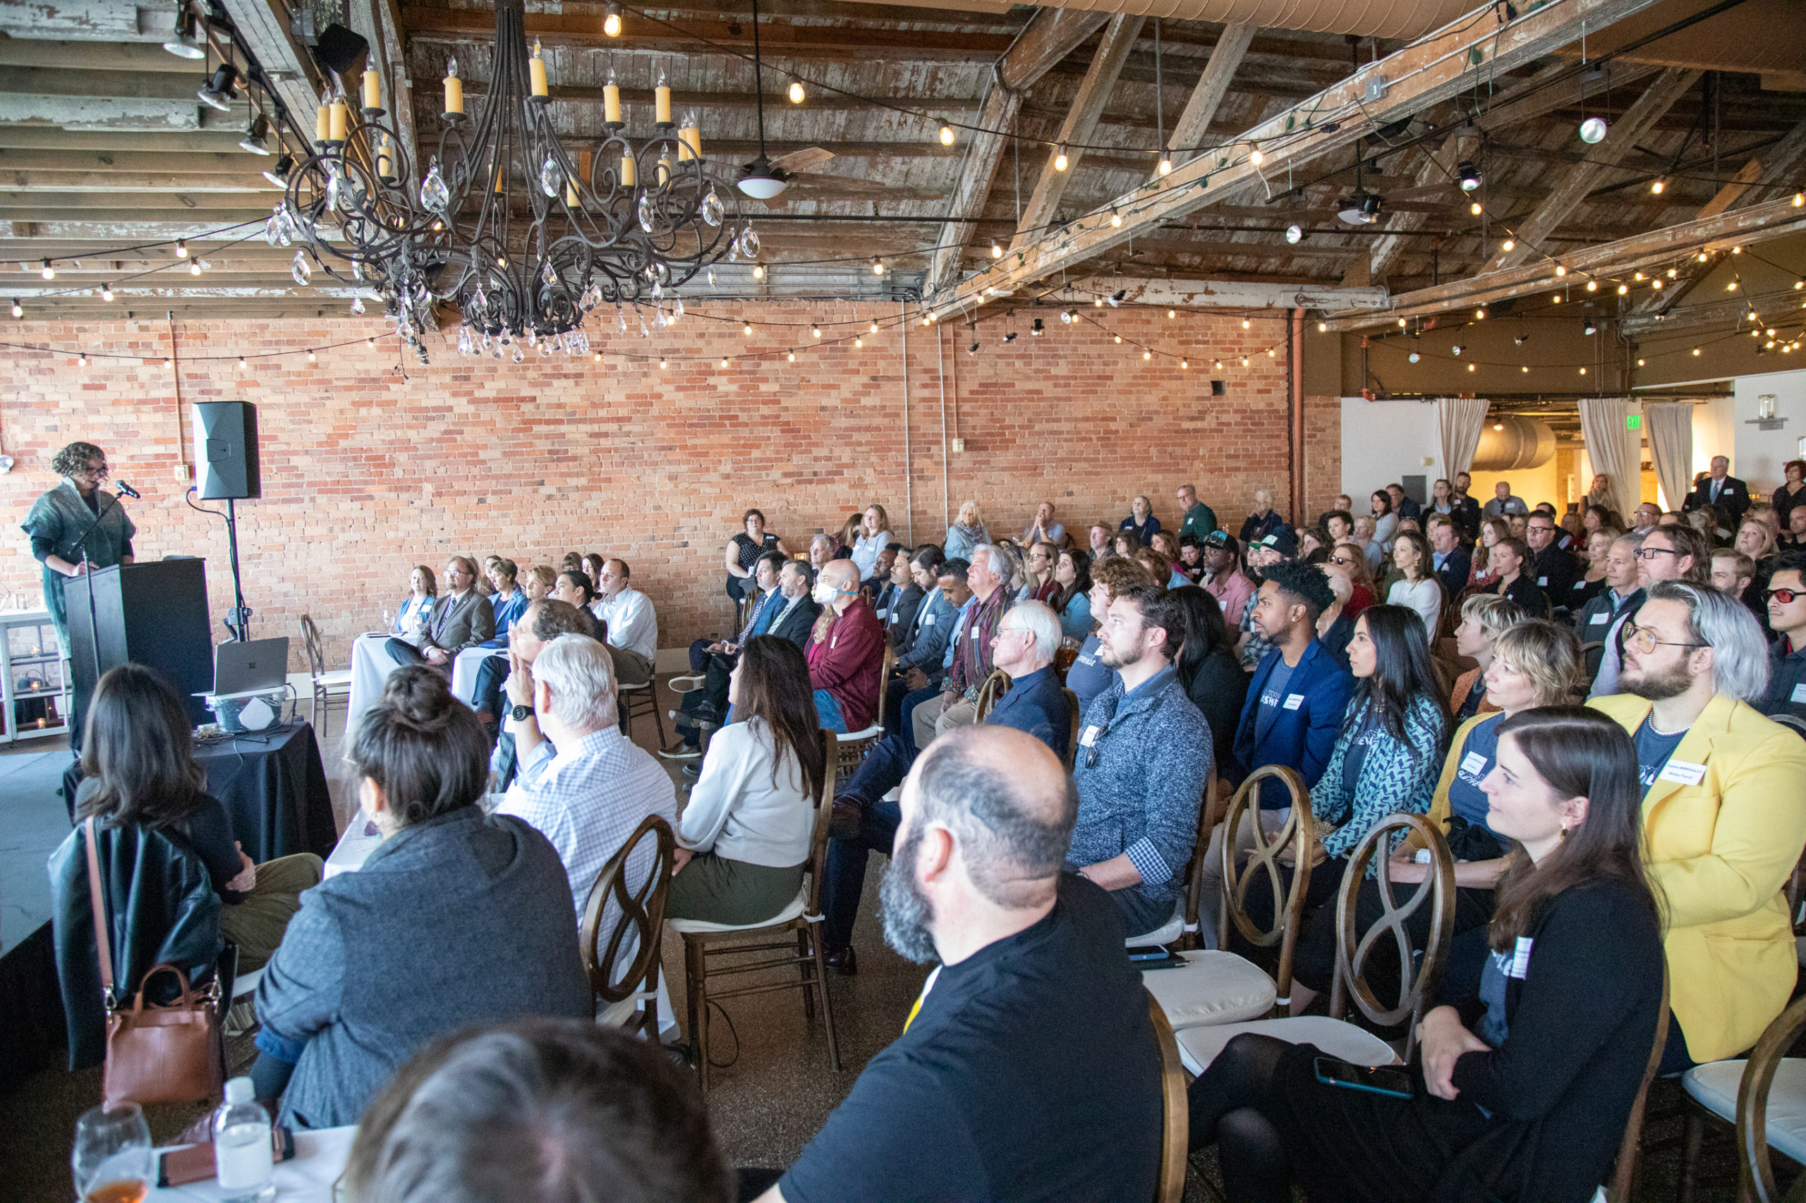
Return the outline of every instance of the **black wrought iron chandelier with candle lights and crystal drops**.
{"type": "MultiPolygon", "coordinates": [[[[703,155],[695,116],[672,121],[663,76],[652,137],[634,145],[625,135],[610,72],[607,135],[594,150],[565,148],[522,7],[497,0],[491,78],[475,119],[464,114],[457,60],[448,63],[439,154],[423,173],[370,70],[359,110],[341,87],[321,98],[312,154],[287,164],[287,193],[265,224],[271,244],[300,244],[298,284],[311,284],[318,266],[374,289],[423,359],[419,336],[435,327],[441,302],[462,312],[464,354],[502,358],[513,345],[518,363],[522,343],[580,354],[594,309],[652,300],[663,325],[666,305],[683,312],[677,289],[697,273],[759,255],[759,235],[730,210],[733,188],[703,155]]],[[[627,329],[625,312],[618,322],[627,329]]]]}

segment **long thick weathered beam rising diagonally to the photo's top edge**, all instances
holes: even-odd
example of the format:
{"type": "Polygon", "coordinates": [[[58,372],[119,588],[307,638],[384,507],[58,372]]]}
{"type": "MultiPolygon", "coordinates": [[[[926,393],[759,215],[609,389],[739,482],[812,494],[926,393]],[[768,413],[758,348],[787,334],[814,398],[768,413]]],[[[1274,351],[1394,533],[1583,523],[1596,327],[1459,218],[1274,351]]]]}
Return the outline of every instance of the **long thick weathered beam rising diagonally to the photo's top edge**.
{"type": "Polygon", "coordinates": [[[1383,125],[1468,94],[1476,78],[1497,78],[1526,67],[1578,40],[1582,27],[1597,31],[1654,2],[1562,0],[1528,9],[1504,25],[1466,23],[1420,38],[1246,130],[1246,139],[1266,146],[1261,166],[1243,152],[1192,159],[1172,175],[1125,195],[1122,226],[1111,226],[1103,215],[1096,215],[1082,228],[1047,231],[990,271],[937,293],[930,302],[932,312],[946,318],[982,303],[986,296],[1011,294],[1033,280],[1071,271],[1159,224],[1239,197],[1250,188],[1264,188],[1266,179],[1284,179],[1288,170],[1345,150],[1383,125]],[[1333,128],[1326,130],[1326,125],[1333,128]]]}

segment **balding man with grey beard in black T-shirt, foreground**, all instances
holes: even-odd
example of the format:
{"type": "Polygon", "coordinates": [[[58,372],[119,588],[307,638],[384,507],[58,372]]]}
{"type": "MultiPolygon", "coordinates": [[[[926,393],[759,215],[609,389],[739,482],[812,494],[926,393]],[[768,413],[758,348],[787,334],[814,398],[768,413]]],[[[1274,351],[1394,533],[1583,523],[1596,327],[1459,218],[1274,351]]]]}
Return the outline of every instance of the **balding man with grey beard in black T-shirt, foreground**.
{"type": "Polygon", "coordinates": [[[1159,1055],[1116,907],[1060,872],[1076,809],[1024,732],[916,760],[880,900],[885,941],[939,968],[760,1203],[1152,1196],[1159,1055]]]}

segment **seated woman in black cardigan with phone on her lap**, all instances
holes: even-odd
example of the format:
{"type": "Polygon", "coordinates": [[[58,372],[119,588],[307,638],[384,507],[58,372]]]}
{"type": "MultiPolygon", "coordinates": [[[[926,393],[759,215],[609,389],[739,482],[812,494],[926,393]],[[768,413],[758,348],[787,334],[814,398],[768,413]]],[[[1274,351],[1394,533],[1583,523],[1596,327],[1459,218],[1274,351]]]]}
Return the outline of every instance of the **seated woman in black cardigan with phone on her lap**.
{"type": "MultiPolygon", "coordinates": [[[[1320,1082],[1313,1044],[1232,1039],[1190,1086],[1224,1192],[1286,1203],[1582,1203],[1611,1172],[1662,1008],[1629,735],[1577,706],[1499,724],[1483,789],[1512,844],[1485,956],[1452,957],[1410,1098],[1320,1082]]],[[[1479,937],[1481,930],[1470,934],[1479,937]]],[[[1476,950],[1479,952],[1479,950],[1476,950]]]]}

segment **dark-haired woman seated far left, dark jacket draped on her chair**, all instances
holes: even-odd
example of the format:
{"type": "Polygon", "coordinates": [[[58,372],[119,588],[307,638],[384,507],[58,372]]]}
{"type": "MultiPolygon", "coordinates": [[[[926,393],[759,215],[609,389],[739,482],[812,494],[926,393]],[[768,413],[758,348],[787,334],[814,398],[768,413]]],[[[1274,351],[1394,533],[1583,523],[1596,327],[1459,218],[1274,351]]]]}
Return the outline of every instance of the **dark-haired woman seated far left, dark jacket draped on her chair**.
{"type": "MultiPolygon", "coordinates": [[[[88,703],[76,816],[155,827],[191,847],[220,896],[220,936],[238,945],[238,972],[260,968],[282,943],[302,891],[320,883],[312,853],[251,863],[231,815],[206,791],[188,708],[143,665],[107,672],[88,703]]],[[[125,905],[125,900],[108,900],[125,905]]]]}

